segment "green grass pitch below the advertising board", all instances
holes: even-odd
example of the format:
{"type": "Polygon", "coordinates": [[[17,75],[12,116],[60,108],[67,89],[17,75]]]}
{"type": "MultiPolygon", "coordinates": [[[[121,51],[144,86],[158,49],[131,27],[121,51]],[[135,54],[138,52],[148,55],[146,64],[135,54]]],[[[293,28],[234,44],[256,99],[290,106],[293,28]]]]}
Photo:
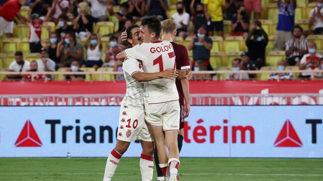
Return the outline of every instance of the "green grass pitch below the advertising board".
{"type": "MultiPolygon", "coordinates": [[[[180,181],[323,181],[323,159],[180,160],[180,181]]],[[[0,181],[102,181],[105,163],[106,158],[0,158],[0,181]]],[[[139,158],[122,158],[112,181],[140,180],[139,158]]]]}

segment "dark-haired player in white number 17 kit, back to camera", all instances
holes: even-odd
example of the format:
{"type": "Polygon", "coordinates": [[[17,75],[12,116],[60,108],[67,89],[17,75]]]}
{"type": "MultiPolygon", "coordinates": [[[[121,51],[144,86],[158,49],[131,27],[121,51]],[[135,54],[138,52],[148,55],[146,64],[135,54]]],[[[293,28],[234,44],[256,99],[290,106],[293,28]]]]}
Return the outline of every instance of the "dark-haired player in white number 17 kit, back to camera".
{"type": "MultiPolygon", "coordinates": [[[[156,73],[167,68],[176,68],[173,46],[160,40],[161,22],[157,17],[144,19],[139,37],[142,44],[126,49],[117,55],[118,60],[126,57],[142,60],[145,72],[156,73]]],[[[145,120],[148,122],[156,147],[160,168],[166,175],[169,167],[169,181],[177,181],[179,152],[177,134],[179,130],[180,108],[175,79],[155,79],[144,84],[145,120]],[[164,141],[168,148],[168,156],[164,141]]]]}

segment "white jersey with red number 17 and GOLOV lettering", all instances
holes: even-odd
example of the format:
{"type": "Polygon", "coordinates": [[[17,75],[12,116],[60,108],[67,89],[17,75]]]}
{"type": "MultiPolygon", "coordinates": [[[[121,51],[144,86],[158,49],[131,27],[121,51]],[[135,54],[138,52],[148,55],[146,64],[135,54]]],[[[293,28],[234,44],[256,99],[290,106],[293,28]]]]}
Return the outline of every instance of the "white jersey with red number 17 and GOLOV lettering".
{"type": "MultiPolygon", "coordinates": [[[[124,51],[127,57],[143,62],[147,73],[161,72],[176,68],[173,46],[168,41],[142,43],[124,51]]],[[[174,79],[155,79],[144,84],[144,101],[147,104],[158,104],[178,100],[174,79]]]]}

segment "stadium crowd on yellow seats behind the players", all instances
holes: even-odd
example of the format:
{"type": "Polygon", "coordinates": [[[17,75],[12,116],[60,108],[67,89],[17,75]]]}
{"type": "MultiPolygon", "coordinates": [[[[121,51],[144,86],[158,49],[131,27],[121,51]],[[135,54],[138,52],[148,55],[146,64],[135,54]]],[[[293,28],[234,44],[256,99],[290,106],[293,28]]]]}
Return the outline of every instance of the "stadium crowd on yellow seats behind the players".
{"type": "MultiPolygon", "coordinates": [[[[323,0],[0,0],[0,5],[1,70],[122,71],[116,55],[129,45],[121,41],[121,32],[150,16],[174,19],[174,41],[187,47],[194,71],[323,69],[323,38],[319,36],[323,0]],[[272,16],[277,22],[270,20],[272,16]],[[20,39],[10,42],[15,38],[20,39]]],[[[289,80],[309,79],[311,73],[260,77],[242,74],[244,80],[289,80]]],[[[315,77],[322,79],[323,73],[315,77]]],[[[45,76],[33,78],[43,80],[45,76]]],[[[220,77],[198,74],[194,78],[220,77]]],[[[221,78],[240,76],[232,73],[221,78]]],[[[66,75],[61,80],[83,81],[85,75],[66,75]]]]}

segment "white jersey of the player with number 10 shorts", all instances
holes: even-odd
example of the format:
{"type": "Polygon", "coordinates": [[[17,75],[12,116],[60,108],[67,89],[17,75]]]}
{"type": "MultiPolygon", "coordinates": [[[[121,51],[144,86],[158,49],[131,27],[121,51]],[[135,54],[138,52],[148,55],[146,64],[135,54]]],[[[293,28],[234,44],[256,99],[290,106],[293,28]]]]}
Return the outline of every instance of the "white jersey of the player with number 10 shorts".
{"type": "Polygon", "coordinates": [[[127,104],[144,108],[144,84],[132,78],[135,72],[143,72],[142,63],[133,58],[126,58],[122,64],[123,75],[125,76],[127,90],[125,99],[127,104]]]}

